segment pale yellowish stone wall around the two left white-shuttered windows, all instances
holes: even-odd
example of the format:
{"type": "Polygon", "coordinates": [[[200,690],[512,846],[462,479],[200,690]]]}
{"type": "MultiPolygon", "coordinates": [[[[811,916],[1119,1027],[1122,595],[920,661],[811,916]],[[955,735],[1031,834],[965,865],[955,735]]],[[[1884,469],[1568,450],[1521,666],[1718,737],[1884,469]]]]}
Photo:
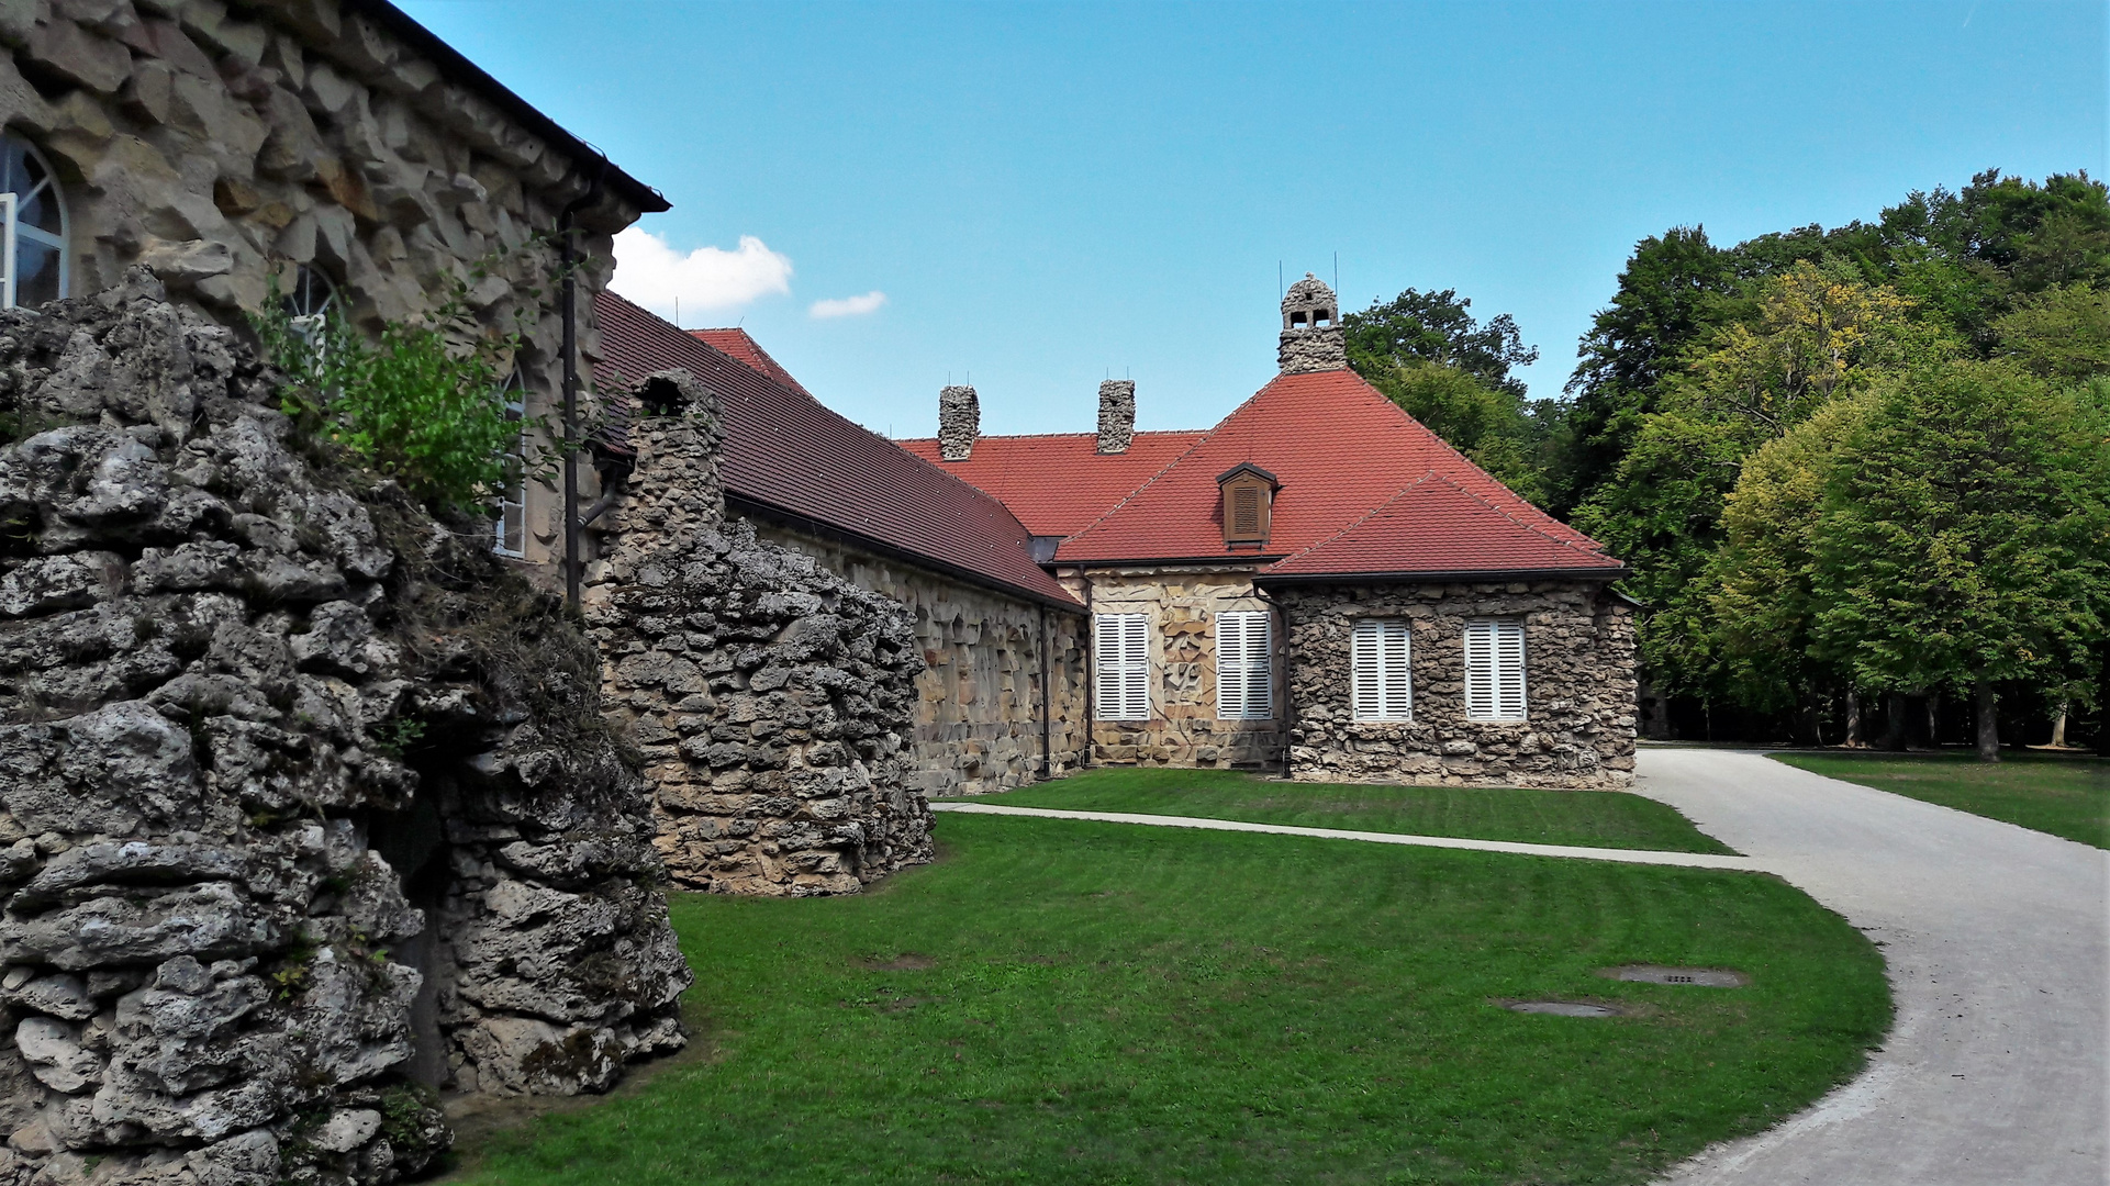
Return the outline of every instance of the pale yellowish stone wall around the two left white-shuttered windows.
{"type": "Polygon", "coordinates": [[[1089,597],[1093,614],[1146,614],[1150,620],[1150,720],[1093,720],[1093,764],[1281,766],[1279,644],[1274,718],[1215,715],[1215,614],[1272,610],[1253,591],[1251,570],[1072,570],[1063,585],[1078,599],[1089,597]]]}

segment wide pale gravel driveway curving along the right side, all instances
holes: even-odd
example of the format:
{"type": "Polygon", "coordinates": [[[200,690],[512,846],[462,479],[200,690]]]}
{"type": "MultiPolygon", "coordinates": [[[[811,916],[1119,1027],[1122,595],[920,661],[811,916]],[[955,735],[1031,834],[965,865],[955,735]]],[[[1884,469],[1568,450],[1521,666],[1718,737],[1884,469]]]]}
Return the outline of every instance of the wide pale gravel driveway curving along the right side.
{"type": "Polygon", "coordinates": [[[1880,941],[1897,1000],[1859,1078],[1663,1182],[2110,1180],[2110,853],[1758,753],[1644,749],[1633,789],[1880,941]]]}

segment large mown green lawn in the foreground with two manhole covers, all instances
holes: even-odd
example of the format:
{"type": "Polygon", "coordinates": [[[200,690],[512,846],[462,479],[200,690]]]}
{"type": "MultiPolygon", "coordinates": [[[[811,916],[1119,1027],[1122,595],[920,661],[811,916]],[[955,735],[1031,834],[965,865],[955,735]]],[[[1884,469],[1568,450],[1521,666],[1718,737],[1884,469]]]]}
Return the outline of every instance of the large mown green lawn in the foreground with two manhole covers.
{"type": "Polygon", "coordinates": [[[709,1055],[487,1137],[454,1180],[1646,1182],[1850,1076],[1891,1015],[1867,939],[1756,874],[975,815],[939,836],[863,897],[675,897],[709,1055]],[[1593,975],[1618,962],[1753,983],[1593,975]]]}

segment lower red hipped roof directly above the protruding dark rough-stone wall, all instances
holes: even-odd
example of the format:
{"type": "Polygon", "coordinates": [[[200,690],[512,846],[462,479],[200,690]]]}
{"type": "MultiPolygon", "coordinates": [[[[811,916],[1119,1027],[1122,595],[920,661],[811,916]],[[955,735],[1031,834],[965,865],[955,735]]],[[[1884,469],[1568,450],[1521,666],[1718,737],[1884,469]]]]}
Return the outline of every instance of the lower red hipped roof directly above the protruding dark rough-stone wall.
{"type": "Polygon", "coordinates": [[[1268,566],[1262,580],[1437,572],[1620,576],[1625,566],[1526,523],[1431,471],[1369,515],[1268,566]]]}

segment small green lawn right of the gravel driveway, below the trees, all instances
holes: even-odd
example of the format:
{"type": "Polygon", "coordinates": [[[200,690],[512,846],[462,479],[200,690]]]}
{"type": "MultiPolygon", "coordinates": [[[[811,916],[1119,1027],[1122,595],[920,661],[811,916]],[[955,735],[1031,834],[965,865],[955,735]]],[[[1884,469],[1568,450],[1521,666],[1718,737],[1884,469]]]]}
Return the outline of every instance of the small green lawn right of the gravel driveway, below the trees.
{"type": "Polygon", "coordinates": [[[1825,774],[2110,848],[2110,762],[2057,753],[1775,753],[1825,774]]]}

